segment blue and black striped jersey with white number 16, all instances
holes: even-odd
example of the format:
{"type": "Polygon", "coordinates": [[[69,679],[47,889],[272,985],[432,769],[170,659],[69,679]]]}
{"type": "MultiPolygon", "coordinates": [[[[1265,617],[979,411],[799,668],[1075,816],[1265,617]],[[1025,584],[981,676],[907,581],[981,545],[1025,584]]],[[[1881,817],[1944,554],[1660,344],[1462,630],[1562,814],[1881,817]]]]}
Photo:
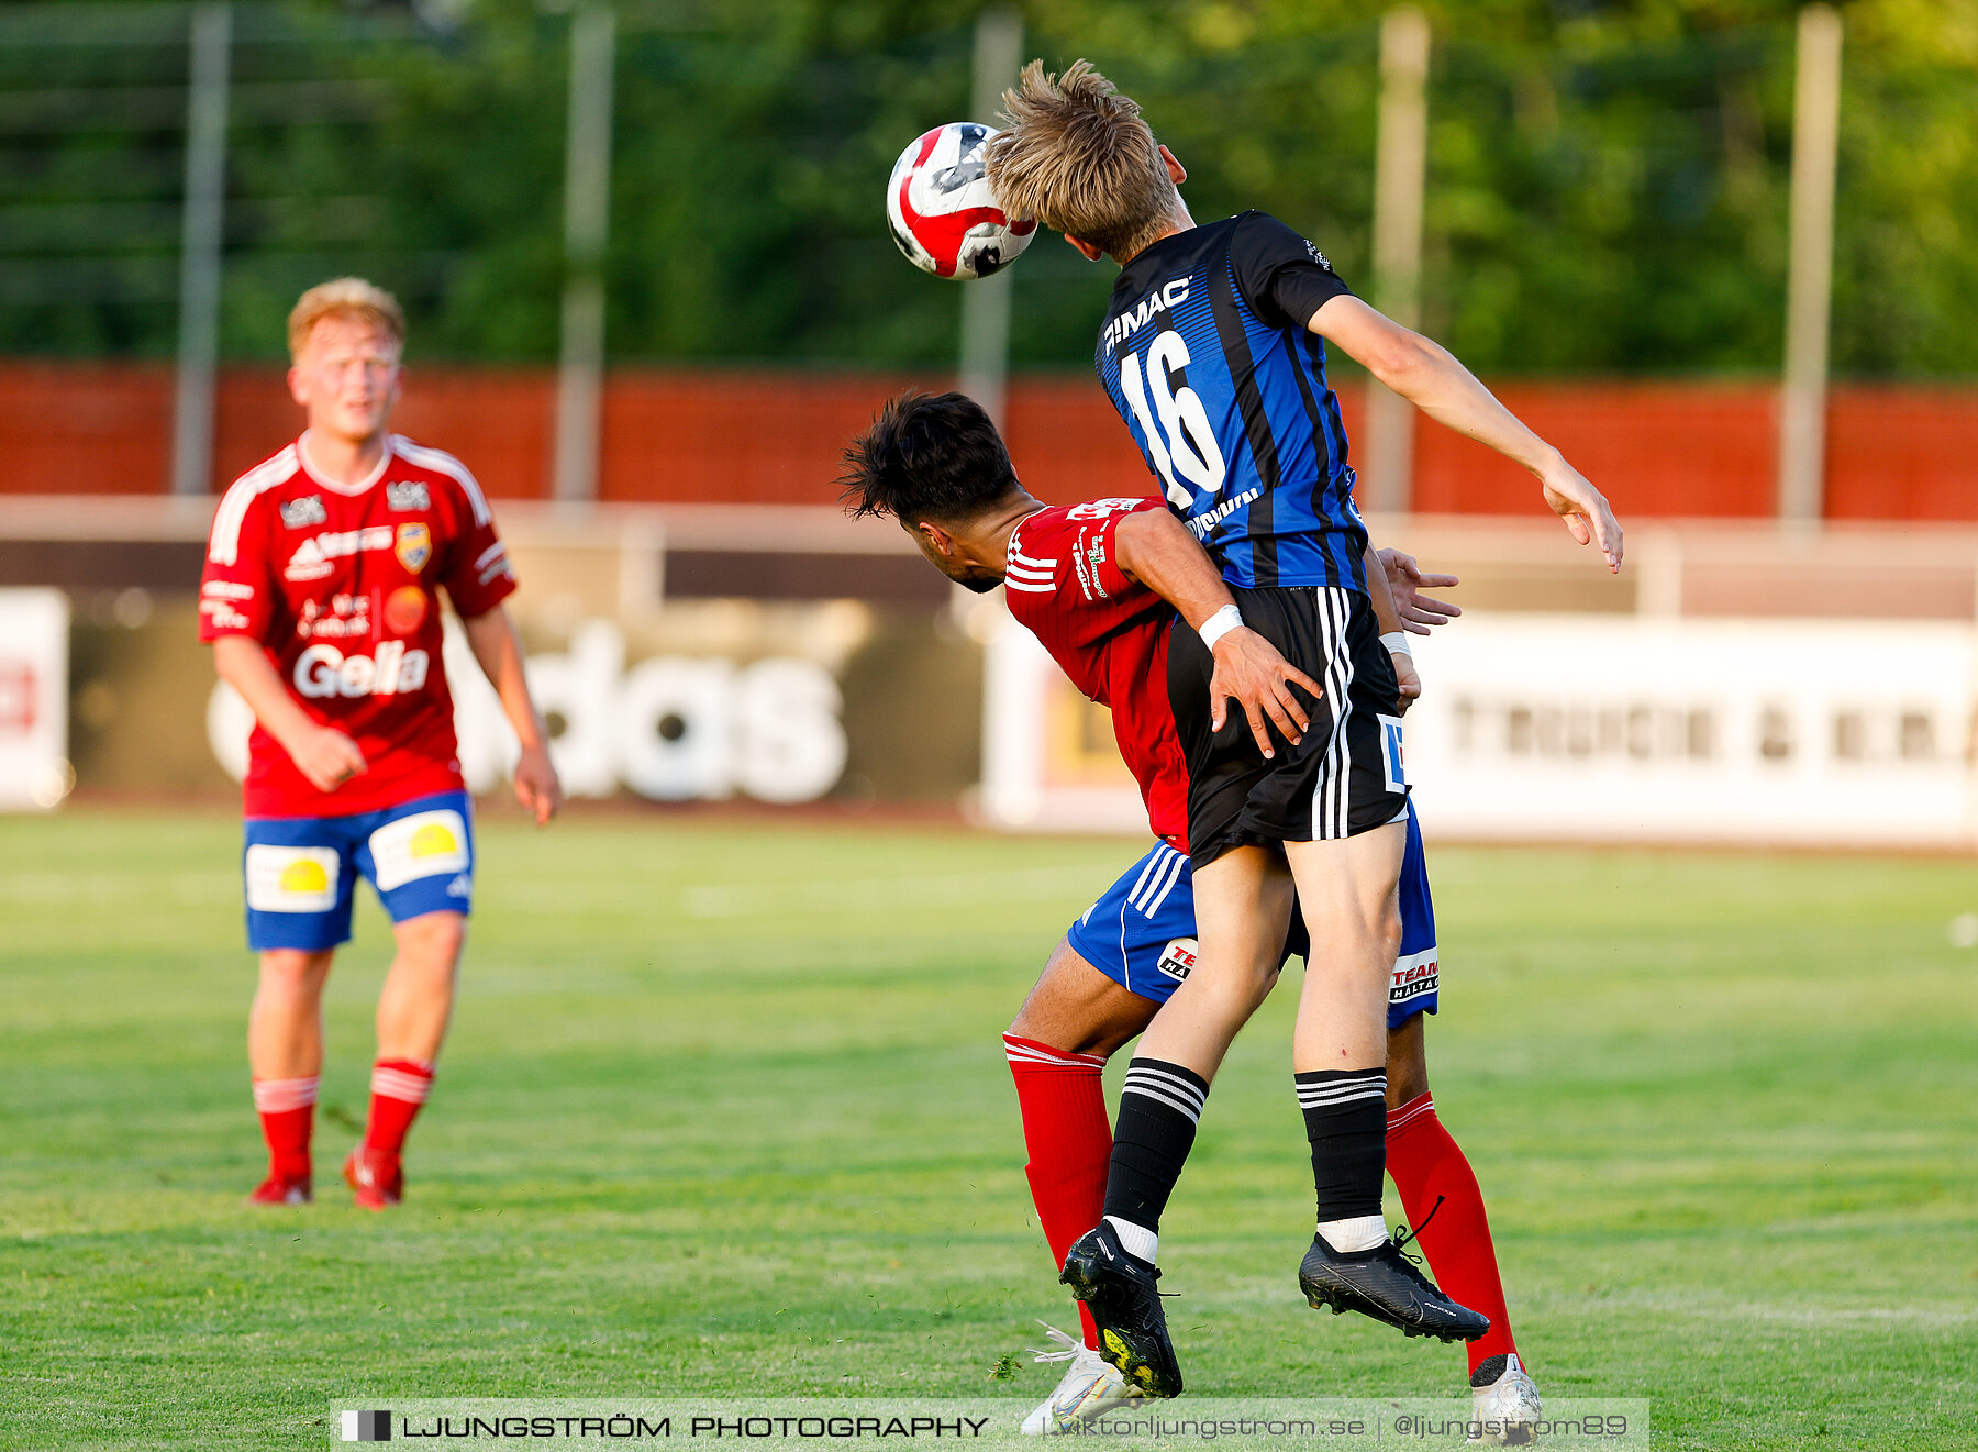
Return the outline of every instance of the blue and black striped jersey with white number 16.
{"type": "Polygon", "coordinates": [[[1347,293],[1262,212],[1163,237],[1114,285],[1100,380],[1232,586],[1367,590],[1347,431],[1305,328],[1347,293]]]}

